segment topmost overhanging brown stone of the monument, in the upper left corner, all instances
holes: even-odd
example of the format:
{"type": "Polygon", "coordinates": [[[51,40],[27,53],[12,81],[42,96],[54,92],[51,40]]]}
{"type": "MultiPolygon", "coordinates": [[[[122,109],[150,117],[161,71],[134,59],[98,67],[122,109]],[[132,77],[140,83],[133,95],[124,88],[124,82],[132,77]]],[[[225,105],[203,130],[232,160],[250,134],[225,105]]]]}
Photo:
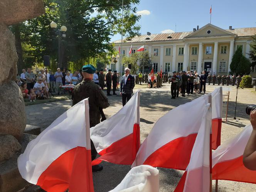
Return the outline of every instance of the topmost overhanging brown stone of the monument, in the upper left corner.
{"type": "Polygon", "coordinates": [[[0,22],[17,24],[44,13],[43,0],[1,0],[0,22]]]}

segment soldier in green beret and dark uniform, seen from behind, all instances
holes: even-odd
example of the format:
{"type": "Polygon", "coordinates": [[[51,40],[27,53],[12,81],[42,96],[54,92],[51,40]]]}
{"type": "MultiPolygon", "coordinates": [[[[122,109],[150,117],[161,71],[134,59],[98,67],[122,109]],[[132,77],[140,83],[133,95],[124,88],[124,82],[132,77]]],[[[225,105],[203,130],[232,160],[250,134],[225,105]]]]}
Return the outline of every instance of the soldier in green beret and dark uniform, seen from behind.
{"type": "MultiPolygon", "coordinates": [[[[74,88],[73,105],[79,103],[85,98],[89,98],[89,116],[90,127],[93,127],[100,123],[101,109],[109,106],[108,98],[101,89],[101,87],[95,84],[93,80],[93,74],[96,71],[92,65],[85,65],[82,68],[83,81],[76,85],[74,88]]],[[[97,156],[97,151],[91,140],[91,160],[94,160],[97,156]]],[[[101,165],[92,166],[93,172],[101,171],[103,167],[101,165]]]]}

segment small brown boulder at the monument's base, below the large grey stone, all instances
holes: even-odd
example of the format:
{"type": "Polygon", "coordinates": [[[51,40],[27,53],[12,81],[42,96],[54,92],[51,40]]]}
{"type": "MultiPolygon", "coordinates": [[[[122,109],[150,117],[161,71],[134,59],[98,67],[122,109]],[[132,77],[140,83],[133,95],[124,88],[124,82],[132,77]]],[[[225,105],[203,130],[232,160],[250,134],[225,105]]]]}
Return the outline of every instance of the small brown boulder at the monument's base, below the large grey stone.
{"type": "Polygon", "coordinates": [[[0,162],[11,158],[15,153],[21,150],[19,141],[12,135],[0,134],[0,162]]]}

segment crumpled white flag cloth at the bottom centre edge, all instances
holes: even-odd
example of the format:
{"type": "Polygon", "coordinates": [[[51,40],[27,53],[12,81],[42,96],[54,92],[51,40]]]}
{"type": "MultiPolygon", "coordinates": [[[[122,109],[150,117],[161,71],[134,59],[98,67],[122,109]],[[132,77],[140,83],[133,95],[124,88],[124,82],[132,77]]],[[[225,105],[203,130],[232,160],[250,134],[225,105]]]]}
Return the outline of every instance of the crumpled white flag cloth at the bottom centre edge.
{"type": "Polygon", "coordinates": [[[150,165],[133,167],[109,192],[159,192],[159,171],[150,165]]]}

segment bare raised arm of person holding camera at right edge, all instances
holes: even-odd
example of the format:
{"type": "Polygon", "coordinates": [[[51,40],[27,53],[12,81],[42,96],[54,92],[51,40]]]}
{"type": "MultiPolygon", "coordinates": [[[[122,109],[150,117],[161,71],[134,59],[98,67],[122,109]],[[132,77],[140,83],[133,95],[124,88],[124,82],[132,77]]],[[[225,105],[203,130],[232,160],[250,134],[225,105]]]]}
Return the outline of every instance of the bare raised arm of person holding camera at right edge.
{"type": "Polygon", "coordinates": [[[244,166],[250,170],[256,170],[256,109],[250,113],[250,121],[253,131],[244,149],[243,162],[244,166]]]}

